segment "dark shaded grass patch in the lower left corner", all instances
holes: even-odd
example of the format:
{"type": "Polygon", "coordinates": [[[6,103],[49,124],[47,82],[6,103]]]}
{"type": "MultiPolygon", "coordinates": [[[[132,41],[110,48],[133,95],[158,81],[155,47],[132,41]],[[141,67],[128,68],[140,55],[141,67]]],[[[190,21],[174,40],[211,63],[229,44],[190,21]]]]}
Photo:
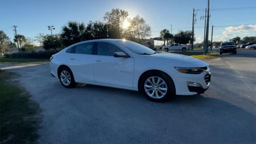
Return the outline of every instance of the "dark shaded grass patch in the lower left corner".
{"type": "Polygon", "coordinates": [[[39,137],[41,110],[28,92],[11,80],[14,76],[0,71],[0,143],[33,143],[39,137]]]}

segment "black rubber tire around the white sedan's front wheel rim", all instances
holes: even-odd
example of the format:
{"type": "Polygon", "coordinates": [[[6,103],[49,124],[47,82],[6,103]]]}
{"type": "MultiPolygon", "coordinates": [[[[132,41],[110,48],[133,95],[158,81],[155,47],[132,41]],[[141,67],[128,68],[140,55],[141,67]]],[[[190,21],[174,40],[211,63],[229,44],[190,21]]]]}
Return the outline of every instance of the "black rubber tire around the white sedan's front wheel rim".
{"type": "Polygon", "coordinates": [[[172,78],[168,74],[166,74],[164,72],[160,72],[160,71],[153,71],[153,72],[148,72],[147,74],[145,74],[142,77],[142,79],[140,80],[139,91],[142,92],[148,100],[151,100],[154,102],[162,102],[164,100],[168,100],[168,99],[174,98],[174,96],[176,96],[175,85],[174,85],[172,78]],[[148,78],[153,77],[153,76],[159,77],[162,80],[164,80],[164,82],[166,82],[167,91],[166,91],[166,94],[162,98],[152,98],[146,93],[146,90],[144,88],[145,82],[148,78]]]}

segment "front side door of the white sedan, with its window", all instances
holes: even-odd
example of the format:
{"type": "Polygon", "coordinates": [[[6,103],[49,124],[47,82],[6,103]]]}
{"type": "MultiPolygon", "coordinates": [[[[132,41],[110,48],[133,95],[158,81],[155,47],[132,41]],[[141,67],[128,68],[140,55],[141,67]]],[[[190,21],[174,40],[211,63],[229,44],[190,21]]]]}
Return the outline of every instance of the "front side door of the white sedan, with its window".
{"type": "Polygon", "coordinates": [[[132,88],[134,58],[115,58],[114,52],[124,52],[124,50],[109,42],[97,42],[94,56],[95,82],[132,88]]]}

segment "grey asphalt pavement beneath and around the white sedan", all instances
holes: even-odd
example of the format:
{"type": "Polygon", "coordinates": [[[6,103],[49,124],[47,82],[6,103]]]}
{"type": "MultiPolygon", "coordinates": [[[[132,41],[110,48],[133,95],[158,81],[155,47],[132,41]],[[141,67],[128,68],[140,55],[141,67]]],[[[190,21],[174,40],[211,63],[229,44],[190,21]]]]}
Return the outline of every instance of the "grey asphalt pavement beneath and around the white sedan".
{"type": "Polygon", "coordinates": [[[163,103],[117,88],[66,89],[48,63],[8,71],[20,74],[15,80],[43,109],[39,143],[255,144],[256,51],[208,63],[212,82],[206,93],[163,103]]]}

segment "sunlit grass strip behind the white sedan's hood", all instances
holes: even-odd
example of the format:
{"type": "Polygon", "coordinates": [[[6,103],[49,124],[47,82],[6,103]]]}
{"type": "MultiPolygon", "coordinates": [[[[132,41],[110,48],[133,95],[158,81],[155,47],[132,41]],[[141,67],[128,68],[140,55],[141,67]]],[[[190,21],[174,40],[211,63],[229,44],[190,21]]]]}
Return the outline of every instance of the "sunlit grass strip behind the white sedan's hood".
{"type": "Polygon", "coordinates": [[[174,54],[183,54],[186,56],[191,56],[193,58],[197,58],[200,60],[209,60],[212,58],[219,58],[220,54],[218,52],[211,52],[208,54],[204,54],[204,52],[170,52],[170,53],[174,53],[174,54]]]}

